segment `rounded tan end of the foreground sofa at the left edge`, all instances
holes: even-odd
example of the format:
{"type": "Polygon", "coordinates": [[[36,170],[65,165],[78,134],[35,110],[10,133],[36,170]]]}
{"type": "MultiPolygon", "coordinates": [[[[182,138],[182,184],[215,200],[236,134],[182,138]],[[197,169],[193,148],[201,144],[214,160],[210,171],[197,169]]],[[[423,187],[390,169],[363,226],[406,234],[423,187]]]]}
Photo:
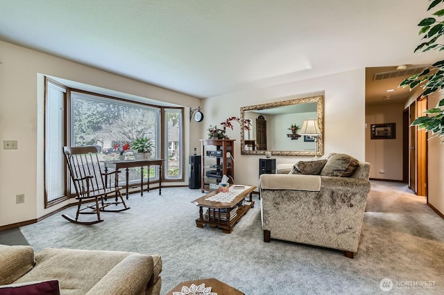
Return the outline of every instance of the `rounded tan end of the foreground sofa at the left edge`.
{"type": "Polygon", "coordinates": [[[14,283],[33,269],[33,247],[0,245],[0,265],[0,285],[14,283]]]}

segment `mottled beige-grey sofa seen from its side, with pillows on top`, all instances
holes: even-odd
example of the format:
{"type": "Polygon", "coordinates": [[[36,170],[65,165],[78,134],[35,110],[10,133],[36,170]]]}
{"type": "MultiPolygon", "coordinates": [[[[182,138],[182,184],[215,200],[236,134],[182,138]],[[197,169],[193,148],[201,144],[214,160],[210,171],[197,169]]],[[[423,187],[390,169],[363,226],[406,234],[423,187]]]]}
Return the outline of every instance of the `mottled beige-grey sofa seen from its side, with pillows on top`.
{"type": "Polygon", "coordinates": [[[370,191],[370,164],[346,154],[300,161],[287,174],[261,175],[264,242],[344,251],[354,258],[370,191]]]}

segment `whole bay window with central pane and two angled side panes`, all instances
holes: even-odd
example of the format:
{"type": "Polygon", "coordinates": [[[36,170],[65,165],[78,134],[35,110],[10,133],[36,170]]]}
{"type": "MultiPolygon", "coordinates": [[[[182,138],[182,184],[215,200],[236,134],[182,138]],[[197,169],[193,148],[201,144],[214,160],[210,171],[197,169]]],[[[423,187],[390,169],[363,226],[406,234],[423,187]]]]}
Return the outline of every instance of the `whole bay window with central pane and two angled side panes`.
{"type": "MultiPolygon", "coordinates": [[[[166,181],[183,180],[183,109],[157,107],[77,89],[65,90],[51,80],[47,80],[46,87],[49,89],[46,92],[45,124],[48,202],[66,195],[67,168],[62,155],[63,145],[96,145],[101,160],[117,160],[121,147],[145,137],[153,144],[151,158],[167,160],[163,175],[157,167],[150,169],[150,181],[160,177],[166,181]],[[165,118],[163,123],[162,117],[165,118]],[[160,135],[162,132],[164,136],[160,135]]],[[[125,150],[123,154],[126,159],[134,159],[133,150],[125,150]]],[[[141,168],[130,168],[130,185],[140,183],[140,171],[141,168]]],[[[144,169],[144,179],[148,178],[147,173],[144,169]]],[[[119,177],[121,185],[125,184],[126,173],[119,177]]]]}

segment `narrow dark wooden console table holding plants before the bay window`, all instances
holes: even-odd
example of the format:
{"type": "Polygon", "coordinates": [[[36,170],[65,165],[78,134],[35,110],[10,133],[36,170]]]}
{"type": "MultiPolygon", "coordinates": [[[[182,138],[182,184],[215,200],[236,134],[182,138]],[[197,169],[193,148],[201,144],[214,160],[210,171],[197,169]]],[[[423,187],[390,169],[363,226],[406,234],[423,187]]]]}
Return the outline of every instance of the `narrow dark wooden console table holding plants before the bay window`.
{"type": "MultiPolygon", "coordinates": [[[[119,170],[126,168],[126,199],[128,199],[128,175],[129,168],[140,167],[140,195],[144,195],[144,166],[148,167],[148,181],[146,184],[146,192],[150,190],[150,166],[159,166],[159,195],[162,193],[162,164],[164,159],[153,160],[116,160],[116,161],[103,161],[105,163],[105,172],[108,172],[108,168],[119,170]]],[[[105,179],[106,182],[106,179],[105,179]]]]}

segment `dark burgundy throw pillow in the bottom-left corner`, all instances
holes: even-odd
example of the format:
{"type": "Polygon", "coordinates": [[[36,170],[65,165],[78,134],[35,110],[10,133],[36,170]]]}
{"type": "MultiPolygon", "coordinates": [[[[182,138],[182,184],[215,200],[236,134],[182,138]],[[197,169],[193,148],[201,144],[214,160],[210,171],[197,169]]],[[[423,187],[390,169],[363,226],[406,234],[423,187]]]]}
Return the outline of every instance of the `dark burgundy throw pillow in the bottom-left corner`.
{"type": "Polygon", "coordinates": [[[0,295],[60,295],[58,280],[43,280],[0,286],[0,295]]]}

